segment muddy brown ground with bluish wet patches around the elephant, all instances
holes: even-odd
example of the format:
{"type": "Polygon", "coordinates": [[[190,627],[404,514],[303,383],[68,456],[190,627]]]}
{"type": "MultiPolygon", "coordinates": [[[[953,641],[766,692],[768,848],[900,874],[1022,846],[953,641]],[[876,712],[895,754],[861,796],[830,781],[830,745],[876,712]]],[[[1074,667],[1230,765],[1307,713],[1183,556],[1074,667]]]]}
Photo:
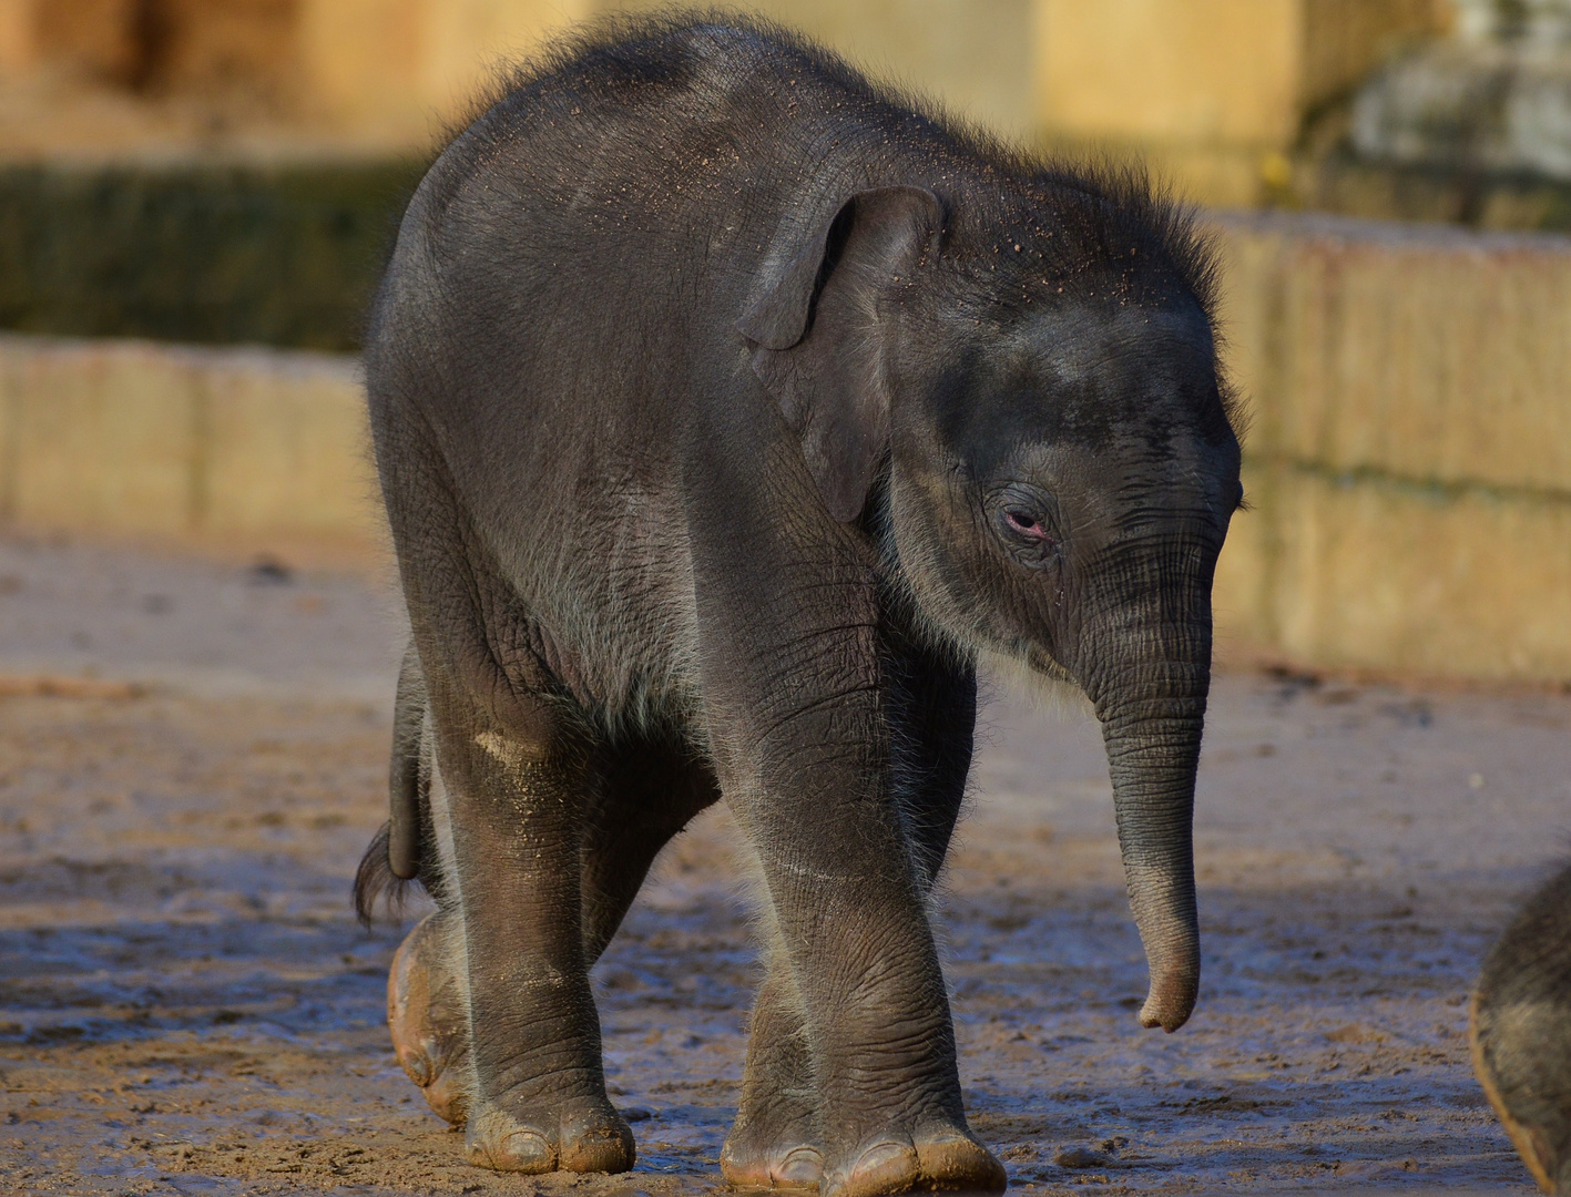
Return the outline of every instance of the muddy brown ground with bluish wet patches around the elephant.
{"type": "MultiPolygon", "coordinates": [[[[399,1071],[383,818],[396,602],[361,573],[0,542],[0,1191],[721,1186],[754,955],[716,812],[595,971],[628,1177],[462,1162],[399,1071]],[[55,679],[35,682],[28,679],[55,679]]],[[[1200,1007],[1142,1032],[1101,743],[988,710],[939,903],[971,1125],[1021,1192],[1530,1191],[1466,993],[1566,850],[1571,697],[1219,677],[1200,1007]]]]}

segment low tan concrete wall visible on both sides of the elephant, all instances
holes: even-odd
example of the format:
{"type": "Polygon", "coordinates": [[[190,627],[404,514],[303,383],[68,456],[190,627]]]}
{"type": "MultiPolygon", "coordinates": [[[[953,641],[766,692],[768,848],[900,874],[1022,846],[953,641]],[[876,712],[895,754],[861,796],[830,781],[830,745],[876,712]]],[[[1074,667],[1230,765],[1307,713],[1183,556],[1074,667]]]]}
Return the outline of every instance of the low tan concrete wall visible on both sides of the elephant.
{"type": "MultiPolygon", "coordinates": [[[[1312,666],[1571,680],[1571,239],[1219,225],[1252,408],[1225,638],[1312,666]]],[[[0,336],[14,528],[375,545],[352,358],[0,336]]]]}

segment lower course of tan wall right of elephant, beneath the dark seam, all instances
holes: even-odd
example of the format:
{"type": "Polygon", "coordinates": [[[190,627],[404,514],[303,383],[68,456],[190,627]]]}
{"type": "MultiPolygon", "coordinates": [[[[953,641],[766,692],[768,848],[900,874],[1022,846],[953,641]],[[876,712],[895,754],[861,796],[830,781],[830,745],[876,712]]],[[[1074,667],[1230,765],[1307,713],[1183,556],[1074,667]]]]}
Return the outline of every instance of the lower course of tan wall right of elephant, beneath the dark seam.
{"type": "Polygon", "coordinates": [[[1571,679],[1571,498],[1251,463],[1222,636],[1313,666],[1571,679]]]}

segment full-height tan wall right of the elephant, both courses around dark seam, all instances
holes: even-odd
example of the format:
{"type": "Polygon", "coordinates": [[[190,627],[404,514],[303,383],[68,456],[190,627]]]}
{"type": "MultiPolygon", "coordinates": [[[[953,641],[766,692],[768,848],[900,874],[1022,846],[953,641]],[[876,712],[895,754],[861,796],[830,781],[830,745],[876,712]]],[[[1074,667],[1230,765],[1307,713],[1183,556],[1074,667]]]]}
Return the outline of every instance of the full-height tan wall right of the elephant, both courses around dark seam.
{"type": "Polygon", "coordinates": [[[1571,240],[1222,226],[1254,413],[1219,620],[1287,657],[1571,679],[1571,240]]]}

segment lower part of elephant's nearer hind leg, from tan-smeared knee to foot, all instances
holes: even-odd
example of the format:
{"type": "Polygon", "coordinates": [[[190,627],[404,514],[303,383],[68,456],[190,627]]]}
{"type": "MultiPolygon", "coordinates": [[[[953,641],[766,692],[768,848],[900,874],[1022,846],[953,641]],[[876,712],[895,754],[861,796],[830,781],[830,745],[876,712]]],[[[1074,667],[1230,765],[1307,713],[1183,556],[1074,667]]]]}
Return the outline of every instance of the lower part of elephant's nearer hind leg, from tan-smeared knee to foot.
{"type": "Polygon", "coordinates": [[[580,928],[581,767],[544,735],[440,724],[432,815],[468,998],[467,1153],[507,1172],[627,1170],[580,928]]]}

